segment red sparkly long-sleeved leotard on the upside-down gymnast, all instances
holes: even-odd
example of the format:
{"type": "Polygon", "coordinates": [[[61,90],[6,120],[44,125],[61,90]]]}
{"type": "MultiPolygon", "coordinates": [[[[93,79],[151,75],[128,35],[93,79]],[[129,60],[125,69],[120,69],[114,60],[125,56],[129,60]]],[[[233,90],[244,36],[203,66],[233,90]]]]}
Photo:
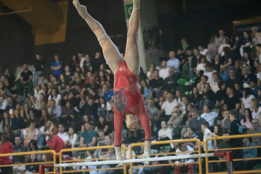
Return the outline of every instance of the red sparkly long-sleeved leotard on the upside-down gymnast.
{"type": "Polygon", "coordinates": [[[145,140],[151,141],[150,121],[137,81],[138,76],[122,61],[114,77],[114,146],[122,145],[122,122],[128,113],[139,117],[145,140]]]}

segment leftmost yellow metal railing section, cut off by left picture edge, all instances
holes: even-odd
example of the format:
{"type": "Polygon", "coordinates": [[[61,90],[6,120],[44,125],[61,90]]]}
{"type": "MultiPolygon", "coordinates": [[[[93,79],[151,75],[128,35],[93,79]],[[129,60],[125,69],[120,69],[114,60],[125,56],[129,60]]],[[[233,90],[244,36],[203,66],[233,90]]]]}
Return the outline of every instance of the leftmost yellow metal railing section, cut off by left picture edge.
{"type": "MultiPolygon", "coordinates": [[[[48,164],[48,163],[56,163],[56,153],[54,150],[47,150],[47,151],[30,151],[30,152],[18,152],[18,153],[3,153],[0,154],[0,157],[6,157],[6,156],[24,156],[24,155],[30,155],[30,154],[42,154],[42,153],[52,153],[53,161],[46,161],[46,162],[33,162],[33,163],[21,163],[21,164],[6,164],[6,165],[0,165],[1,167],[9,167],[9,166],[23,166],[23,165],[37,165],[37,164],[48,164]]],[[[46,174],[56,174],[56,169],[54,168],[53,172],[46,172],[46,174]]],[[[38,174],[38,173],[35,173],[38,174]]]]}

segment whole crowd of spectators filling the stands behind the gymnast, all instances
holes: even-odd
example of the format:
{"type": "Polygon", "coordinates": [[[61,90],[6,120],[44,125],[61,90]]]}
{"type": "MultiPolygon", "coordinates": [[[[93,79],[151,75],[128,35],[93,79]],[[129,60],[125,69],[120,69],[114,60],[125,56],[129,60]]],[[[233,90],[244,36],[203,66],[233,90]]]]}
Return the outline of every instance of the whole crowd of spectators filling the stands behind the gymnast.
{"type": "MultiPolygon", "coordinates": [[[[141,68],[138,87],[144,97],[150,118],[153,141],[261,133],[261,44],[256,27],[243,36],[226,37],[223,30],[212,36],[205,48],[192,48],[182,39],[180,48],[171,50],[161,67],[151,64],[148,72],[141,68]],[[242,38],[242,39],[239,39],[242,38]]],[[[124,53],[122,53],[124,55],[124,53]]],[[[0,80],[0,133],[13,144],[14,152],[39,151],[112,145],[114,139],[113,82],[114,75],[102,54],[94,57],[79,52],[70,64],[64,64],[55,55],[51,67],[46,67],[40,54],[36,55],[35,71],[23,65],[18,80],[6,69],[0,80]],[[48,77],[43,72],[51,68],[48,77]],[[58,147],[59,146],[59,147],[58,147]]],[[[123,144],[144,141],[144,131],[130,131],[123,124],[123,144]]],[[[260,157],[261,137],[208,141],[208,149],[247,147],[234,151],[234,158],[260,157]]],[[[2,145],[2,144],[1,144],[2,145]]],[[[196,142],[152,146],[152,151],[184,152],[192,154],[196,142]]],[[[133,149],[133,155],[142,154],[144,147],[133,149]]],[[[2,153],[2,151],[1,151],[2,153]]],[[[130,153],[126,153],[129,155],[130,153]]],[[[184,155],[179,153],[177,155],[184,155]]],[[[73,151],[66,159],[115,157],[114,149],[73,151]]],[[[128,156],[130,157],[130,156],[128,156]]],[[[134,158],[134,157],[133,157],[134,158]]],[[[2,158],[1,158],[2,159],[2,158]]],[[[215,158],[213,158],[215,159],[215,158]]],[[[220,158],[221,159],[221,158],[220,158]]],[[[31,154],[13,157],[8,163],[52,160],[52,155],[31,154]]],[[[57,158],[58,160],[58,158],[57,158]]],[[[102,160],[102,159],[101,159],[102,160]]],[[[196,159],[168,161],[187,163],[196,159]]],[[[0,160],[3,164],[3,160],[0,160]]],[[[161,162],[154,162],[159,164],[161,162]]],[[[235,170],[252,170],[255,160],[235,162],[235,170]]],[[[202,163],[204,164],[204,162],[202,163]]],[[[224,171],[224,164],[211,163],[211,170],[224,171]],[[213,168],[213,169],[212,169],[213,168]]],[[[97,166],[67,168],[64,170],[95,169],[97,166]]],[[[110,168],[112,166],[98,166],[110,168]]],[[[196,164],[168,167],[135,168],[134,173],[170,171],[197,172],[196,164]]],[[[38,165],[15,166],[14,174],[36,173],[38,165]]],[[[203,168],[203,172],[204,172],[203,168]]],[[[91,171],[91,174],[122,173],[122,170],[91,171]]],[[[79,172],[81,173],[81,172],[79,172]]]]}

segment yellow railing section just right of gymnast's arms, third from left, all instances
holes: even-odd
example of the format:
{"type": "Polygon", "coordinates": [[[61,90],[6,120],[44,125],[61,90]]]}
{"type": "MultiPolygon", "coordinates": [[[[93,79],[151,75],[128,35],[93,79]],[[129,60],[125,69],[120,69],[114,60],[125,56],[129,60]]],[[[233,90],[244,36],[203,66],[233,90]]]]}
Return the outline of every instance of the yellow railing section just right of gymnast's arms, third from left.
{"type": "MultiPolygon", "coordinates": [[[[160,144],[170,144],[170,143],[183,143],[183,142],[197,142],[198,145],[200,145],[200,140],[197,138],[194,139],[176,139],[176,140],[167,140],[167,141],[157,141],[157,142],[152,142],[151,145],[160,145],[160,144]]],[[[130,145],[129,150],[130,150],[130,159],[134,156],[132,156],[132,148],[135,146],[144,146],[144,143],[133,143],[130,145]]],[[[200,146],[199,146],[200,147],[200,146]]],[[[193,151],[196,152],[198,154],[201,153],[201,148],[198,148],[198,151],[193,151]]],[[[190,153],[193,153],[190,152],[190,153]]],[[[182,152],[182,153],[186,153],[186,152],[182,152]]],[[[172,152],[172,153],[157,153],[157,155],[171,155],[171,154],[177,154],[176,152],[172,152]]],[[[151,154],[153,155],[153,154],[151,154]]],[[[139,155],[135,155],[139,156],[139,155]]],[[[181,165],[184,163],[179,163],[179,164],[157,164],[157,165],[149,165],[149,167],[156,167],[156,166],[174,166],[174,165],[181,165]]],[[[191,163],[186,163],[186,164],[199,164],[199,173],[202,173],[202,162],[201,162],[201,158],[198,159],[197,162],[191,162],[191,163]]],[[[132,163],[130,163],[130,174],[133,174],[133,168],[139,168],[139,167],[147,167],[147,166],[133,166],[132,163]]],[[[125,173],[124,173],[125,174],[125,173]]]]}

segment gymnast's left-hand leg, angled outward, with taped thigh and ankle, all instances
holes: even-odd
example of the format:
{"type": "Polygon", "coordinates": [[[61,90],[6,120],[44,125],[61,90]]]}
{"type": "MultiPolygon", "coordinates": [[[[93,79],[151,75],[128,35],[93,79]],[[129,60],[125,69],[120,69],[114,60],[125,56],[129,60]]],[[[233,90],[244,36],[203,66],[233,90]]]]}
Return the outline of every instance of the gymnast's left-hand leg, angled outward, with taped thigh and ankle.
{"type": "Polygon", "coordinates": [[[86,21],[90,29],[96,35],[99,44],[102,47],[104,58],[110,69],[115,74],[119,64],[123,61],[122,55],[120,54],[115,44],[113,44],[111,39],[108,37],[102,25],[88,14],[86,6],[81,5],[78,0],[73,0],[73,4],[81,17],[86,21]]]}

